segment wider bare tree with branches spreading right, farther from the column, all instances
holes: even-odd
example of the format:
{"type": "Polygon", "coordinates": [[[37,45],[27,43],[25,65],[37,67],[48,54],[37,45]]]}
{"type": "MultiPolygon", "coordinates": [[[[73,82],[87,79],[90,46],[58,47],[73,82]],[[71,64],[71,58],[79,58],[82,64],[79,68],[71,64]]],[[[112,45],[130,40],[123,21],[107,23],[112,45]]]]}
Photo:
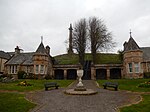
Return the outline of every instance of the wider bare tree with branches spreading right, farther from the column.
{"type": "Polygon", "coordinates": [[[98,51],[108,50],[114,46],[112,34],[107,30],[106,25],[101,19],[96,17],[89,18],[89,39],[91,41],[91,53],[93,63],[96,62],[98,51]]]}

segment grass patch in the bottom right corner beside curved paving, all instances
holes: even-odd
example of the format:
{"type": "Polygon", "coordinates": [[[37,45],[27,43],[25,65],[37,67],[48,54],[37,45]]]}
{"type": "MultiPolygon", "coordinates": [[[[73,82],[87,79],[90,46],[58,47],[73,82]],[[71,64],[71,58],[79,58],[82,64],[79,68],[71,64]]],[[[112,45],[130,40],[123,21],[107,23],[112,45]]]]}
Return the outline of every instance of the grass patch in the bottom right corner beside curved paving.
{"type": "Polygon", "coordinates": [[[143,101],[139,104],[133,104],[129,107],[123,107],[121,112],[150,112],[150,95],[142,95],[143,101]]]}

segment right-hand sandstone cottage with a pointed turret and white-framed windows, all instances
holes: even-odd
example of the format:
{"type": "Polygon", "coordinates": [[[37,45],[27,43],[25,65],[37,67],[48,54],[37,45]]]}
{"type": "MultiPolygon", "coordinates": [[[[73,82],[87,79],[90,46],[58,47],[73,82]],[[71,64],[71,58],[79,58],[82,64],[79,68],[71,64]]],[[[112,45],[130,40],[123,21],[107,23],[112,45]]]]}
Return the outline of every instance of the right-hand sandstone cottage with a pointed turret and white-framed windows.
{"type": "Polygon", "coordinates": [[[139,47],[130,34],[124,43],[123,77],[143,78],[146,72],[150,72],[150,47],[139,47]]]}

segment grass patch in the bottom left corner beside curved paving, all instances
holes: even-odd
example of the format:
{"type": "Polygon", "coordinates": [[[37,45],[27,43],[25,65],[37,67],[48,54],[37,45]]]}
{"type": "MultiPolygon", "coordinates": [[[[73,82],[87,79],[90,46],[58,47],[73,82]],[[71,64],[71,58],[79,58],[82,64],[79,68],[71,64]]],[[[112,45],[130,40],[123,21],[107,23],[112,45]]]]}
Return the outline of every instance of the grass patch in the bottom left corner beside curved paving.
{"type": "Polygon", "coordinates": [[[35,106],[27,101],[23,94],[0,93],[0,112],[28,112],[35,106]]]}

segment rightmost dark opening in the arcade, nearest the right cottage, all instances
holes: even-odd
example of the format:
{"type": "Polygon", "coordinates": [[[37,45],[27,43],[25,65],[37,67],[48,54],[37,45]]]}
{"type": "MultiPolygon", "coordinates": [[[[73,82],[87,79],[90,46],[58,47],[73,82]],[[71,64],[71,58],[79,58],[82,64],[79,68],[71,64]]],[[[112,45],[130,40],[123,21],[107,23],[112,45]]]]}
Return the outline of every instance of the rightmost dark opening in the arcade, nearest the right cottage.
{"type": "Polygon", "coordinates": [[[120,68],[110,69],[110,79],[121,79],[121,69],[120,68]]]}

